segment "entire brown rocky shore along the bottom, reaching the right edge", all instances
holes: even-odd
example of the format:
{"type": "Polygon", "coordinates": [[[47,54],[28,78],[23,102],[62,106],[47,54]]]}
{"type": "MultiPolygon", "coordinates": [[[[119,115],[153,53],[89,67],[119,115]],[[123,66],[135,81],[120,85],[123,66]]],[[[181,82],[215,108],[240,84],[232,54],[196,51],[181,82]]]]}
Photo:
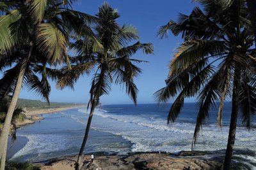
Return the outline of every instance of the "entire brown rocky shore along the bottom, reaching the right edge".
{"type": "MultiPolygon", "coordinates": [[[[137,152],[129,153],[128,155],[104,155],[104,152],[93,153],[95,159],[90,160],[90,155],[84,155],[82,158],[83,164],[80,169],[83,170],[132,170],[132,169],[173,169],[173,170],[200,170],[200,169],[222,169],[225,150],[216,151],[182,151],[177,154],[173,153],[158,153],[158,152],[137,152]]],[[[250,166],[253,162],[246,157],[239,155],[248,155],[255,157],[255,152],[250,150],[235,150],[232,160],[231,169],[255,169],[250,166]],[[244,153],[244,154],[243,154],[244,153]],[[244,159],[244,160],[243,160],[244,159]],[[250,163],[250,164],[249,164],[250,163]]],[[[48,160],[47,164],[37,163],[36,166],[42,167],[43,170],[54,169],[70,169],[74,170],[76,165],[76,156],[63,157],[60,159],[48,160]]]]}

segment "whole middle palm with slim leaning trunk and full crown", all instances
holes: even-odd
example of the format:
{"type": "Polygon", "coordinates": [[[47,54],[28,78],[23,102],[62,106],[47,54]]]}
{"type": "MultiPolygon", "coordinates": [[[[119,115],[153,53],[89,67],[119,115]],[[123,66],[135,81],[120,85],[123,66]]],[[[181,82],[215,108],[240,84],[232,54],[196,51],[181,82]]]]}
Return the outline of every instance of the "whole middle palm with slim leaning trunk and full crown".
{"type": "Polygon", "coordinates": [[[74,83],[79,76],[84,73],[95,71],[90,89],[90,115],[84,134],[83,143],[77,158],[76,169],[79,169],[81,156],[88,138],[88,132],[92,122],[95,107],[100,104],[100,96],[108,94],[111,83],[124,85],[127,94],[136,104],[138,89],[134,84],[134,77],[141,73],[141,69],[133,62],[143,62],[142,60],[131,59],[131,56],[138,50],[145,53],[152,53],[152,44],[143,44],[140,41],[133,45],[128,45],[132,40],[138,39],[137,31],[134,27],[123,25],[120,27],[116,23],[119,14],[116,10],[104,3],[99,8],[96,15],[97,23],[92,25],[92,31],[97,41],[102,45],[99,50],[94,50],[90,39],[83,37],[71,46],[77,50],[77,56],[70,59],[73,63],[72,69],[63,67],[62,74],[58,80],[58,87],[65,86],[74,88],[74,83]],[[127,46],[128,45],[128,46],[127,46]]]}

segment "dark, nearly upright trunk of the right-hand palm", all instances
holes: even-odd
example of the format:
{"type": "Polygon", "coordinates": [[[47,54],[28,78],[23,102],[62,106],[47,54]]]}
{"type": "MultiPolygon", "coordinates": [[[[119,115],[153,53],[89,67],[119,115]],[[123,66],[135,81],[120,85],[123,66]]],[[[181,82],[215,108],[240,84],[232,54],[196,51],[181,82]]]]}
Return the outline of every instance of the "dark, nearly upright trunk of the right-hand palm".
{"type": "MultiPolygon", "coordinates": [[[[236,73],[236,71],[235,71],[236,73]]],[[[237,116],[238,116],[238,104],[239,104],[239,90],[240,90],[240,73],[234,77],[234,87],[232,94],[232,113],[230,118],[230,127],[228,134],[228,144],[224,160],[224,170],[229,170],[231,166],[231,159],[234,150],[234,143],[236,139],[236,125],[237,125],[237,116]]]]}

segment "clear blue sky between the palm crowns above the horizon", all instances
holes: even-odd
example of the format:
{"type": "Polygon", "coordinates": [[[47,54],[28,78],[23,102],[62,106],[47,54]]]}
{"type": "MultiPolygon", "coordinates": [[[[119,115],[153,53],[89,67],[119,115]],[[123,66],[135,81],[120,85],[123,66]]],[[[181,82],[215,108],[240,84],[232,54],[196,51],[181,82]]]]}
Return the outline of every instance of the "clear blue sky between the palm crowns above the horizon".
{"type": "MultiPolygon", "coordinates": [[[[141,64],[143,73],[136,78],[136,85],[140,90],[138,94],[138,103],[155,103],[153,94],[164,87],[164,80],[168,73],[168,63],[172,59],[175,48],[182,43],[180,37],[174,37],[169,34],[168,39],[157,38],[157,31],[161,25],[169,20],[177,20],[179,13],[189,14],[198,4],[191,3],[190,0],[109,0],[113,8],[117,9],[121,17],[119,24],[131,24],[139,31],[140,41],[142,43],[153,43],[154,55],[143,55],[142,52],[134,55],[135,59],[147,60],[149,63],[141,64]]],[[[80,0],[74,3],[74,10],[83,11],[94,15],[99,6],[104,3],[102,0],[80,0]]],[[[76,102],[87,103],[89,99],[91,76],[83,76],[77,81],[75,90],[65,88],[58,90],[55,83],[51,82],[50,101],[58,102],[76,102]]],[[[29,92],[26,87],[20,92],[20,98],[41,99],[34,92],[29,92]]],[[[119,86],[112,86],[111,93],[108,96],[101,97],[102,104],[130,104],[131,99],[125,94],[125,90],[119,86]]],[[[187,99],[191,102],[195,99],[187,99]]],[[[170,100],[172,103],[173,99],[170,100]]]]}

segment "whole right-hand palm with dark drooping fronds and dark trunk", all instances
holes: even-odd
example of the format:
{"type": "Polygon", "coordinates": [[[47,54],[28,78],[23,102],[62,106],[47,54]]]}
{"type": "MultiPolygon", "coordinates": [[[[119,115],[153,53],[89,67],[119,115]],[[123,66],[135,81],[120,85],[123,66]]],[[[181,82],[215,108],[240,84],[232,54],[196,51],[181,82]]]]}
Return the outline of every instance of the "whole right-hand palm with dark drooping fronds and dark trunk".
{"type": "Polygon", "coordinates": [[[237,115],[250,129],[256,111],[255,36],[251,30],[245,1],[200,1],[190,15],[180,14],[179,22],[170,21],[159,30],[161,38],[172,31],[182,34],[182,43],[170,62],[166,87],[156,92],[159,102],[175,97],[168,123],[175,122],[185,97],[198,96],[198,116],[193,145],[200,127],[209,118],[209,109],[218,106],[218,125],[222,125],[225,100],[232,99],[230,131],[224,169],[230,169],[236,136],[237,115]],[[220,103],[220,104],[217,104],[220,103]]]}

